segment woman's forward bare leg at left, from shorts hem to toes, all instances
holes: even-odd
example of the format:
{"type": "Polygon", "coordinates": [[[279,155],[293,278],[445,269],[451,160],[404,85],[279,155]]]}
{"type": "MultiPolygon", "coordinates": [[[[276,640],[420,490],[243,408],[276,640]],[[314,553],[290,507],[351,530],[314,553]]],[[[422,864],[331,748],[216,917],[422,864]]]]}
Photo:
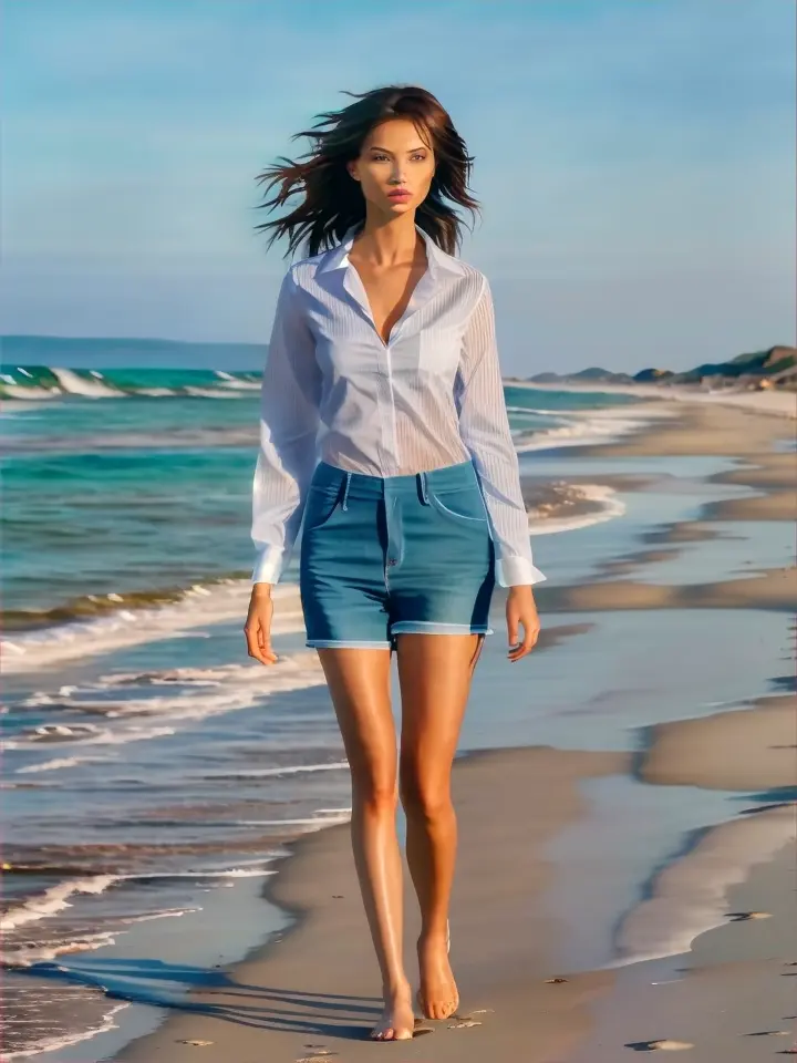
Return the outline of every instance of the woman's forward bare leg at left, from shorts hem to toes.
{"type": "Polygon", "coordinates": [[[390,650],[320,649],[352,775],[352,848],[382,972],[376,1040],[412,1038],[412,989],[402,958],[402,865],[396,835],[396,737],[390,650]]]}

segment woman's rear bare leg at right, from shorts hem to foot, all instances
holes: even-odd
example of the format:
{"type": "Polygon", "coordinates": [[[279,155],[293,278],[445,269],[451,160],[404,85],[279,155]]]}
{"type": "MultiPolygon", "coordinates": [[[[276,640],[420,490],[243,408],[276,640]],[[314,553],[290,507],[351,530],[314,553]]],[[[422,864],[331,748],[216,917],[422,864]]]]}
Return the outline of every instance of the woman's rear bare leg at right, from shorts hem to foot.
{"type": "Polygon", "coordinates": [[[397,637],[401,795],[407,864],[421,906],[418,1003],[427,1019],[447,1019],[459,1003],[446,942],[457,848],[451,770],[483,643],[484,636],[476,634],[397,637]]]}

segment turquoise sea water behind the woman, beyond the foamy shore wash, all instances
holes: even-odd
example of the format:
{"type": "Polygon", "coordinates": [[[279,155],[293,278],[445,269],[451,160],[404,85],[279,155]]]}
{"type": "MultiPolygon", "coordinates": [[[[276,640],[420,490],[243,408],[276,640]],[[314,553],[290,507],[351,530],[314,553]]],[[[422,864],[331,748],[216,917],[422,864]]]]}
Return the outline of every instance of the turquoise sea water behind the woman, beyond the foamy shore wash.
{"type": "MultiPolygon", "coordinates": [[[[7,632],[108,608],[89,596],[135,592],[144,602],[251,571],[256,376],[94,372],[4,371],[14,386],[56,389],[3,403],[7,632]]],[[[546,409],[557,413],[540,414],[538,394],[507,388],[513,427],[524,438],[544,435],[568,413],[618,404],[546,392],[546,409]]]]}

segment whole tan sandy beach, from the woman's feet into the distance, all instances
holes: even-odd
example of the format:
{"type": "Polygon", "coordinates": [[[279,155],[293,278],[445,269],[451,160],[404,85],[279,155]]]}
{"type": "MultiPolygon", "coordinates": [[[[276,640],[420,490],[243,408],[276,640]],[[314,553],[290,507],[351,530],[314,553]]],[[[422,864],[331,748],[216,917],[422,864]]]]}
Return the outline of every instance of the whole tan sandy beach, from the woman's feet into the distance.
{"type": "MultiPolygon", "coordinates": [[[[714,478],[749,487],[749,497],[707,504],[698,519],[663,533],[670,545],[687,544],[710,540],[716,522],[794,519],[789,475],[797,456],[773,452],[788,431],[780,417],[685,403],[634,437],[601,446],[600,454],[739,460],[714,478]]],[[[579,452],[594,453],[584,447],[568,454],[579,452]]],[[[640,549],[652,565],[670,556],[650,545],[640,549]]],[[[651,610],[742,609],[749,611],[753,638],[757,610],[794,611],[797,581],[789,567],[689,586],[622,578],[576,587],[544,584],[537,598],[544,627],[550,612],[635,609],[643,623],[651,610]]],[[[567,620],[558,617],[555,623],[567,620]]],[[[576,629],[575,619],[571,623],[576,629]]],[[[552,636],[541,641],[539,652],[556,641],[552,636]]],[[[666,653],[666,647],[651,652],[666,653]]],[[[790,669],[793,662],[784,662],[784,673],[790,669]]],[[[413,1041],[390,1047],[366,1040],[380,1011],[379,977],[349,829],[339,826],[292,844],[292,856],[267,885],[268,898],[294,917],[293,927],[214,984],[195,988],[155,1033],[115,1059],[345,1063],[387,1052],[400,1061],[618,1063],[632,1051],[680,1047],[684,1059],[735,1063],[785,1052],[794,1043],[797,1013],[790,981],[797,968],[787,966],[797,962],[797,703],[762,696],[751,705],[650,727],[645,739],[635,754],[535,747],[457,761],[460,849],[452,958],[462,1019],[423,1023],[413,1041]],[[568,971],[562,920],[577,923],[590,915],[562,916],[553,905],[557,876],[583,871],[567,856],[552,856],[551,845],[588,816],[592,782],[614,776],[636,777],[662,794],[672,787],[735,792],[738,806],[732,819],[685,837],[682,850],[653,870],[648,896],[617,927],[620,957],[632,959],[648,948],[656,958],[568,971]],[[183,1043],[190,1040],[211,1044],[183,1043]]],[[[600,852],[589,857],[596,890],[605,889],[599,879],[611,881],[611,857],[602,863],[600,852]]],[[[417,914],[406,879],[405,886],[411,957],[417,914]]],[[[416,974],[413,964],[410,973],[416,974]]]]}

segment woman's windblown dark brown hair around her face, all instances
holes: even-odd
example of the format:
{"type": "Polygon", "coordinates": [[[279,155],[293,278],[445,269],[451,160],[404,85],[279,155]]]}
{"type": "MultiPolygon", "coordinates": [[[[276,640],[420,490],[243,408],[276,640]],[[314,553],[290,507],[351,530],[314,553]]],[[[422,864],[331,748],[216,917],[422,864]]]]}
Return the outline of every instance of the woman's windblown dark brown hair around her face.
{"type": "Polygon", "coordinates": [[[416,224],[449,255],[459,247],[463,221],[451,203],[477,214],[478,200],[468,193],[473,157],[465,142],[454,128],[448,112],[438,100],[415,85],[386,85],[371,92],[346,92],[356,102],[340,111],[315,115],[310,130],[296,133],[291,140],[307,136],[311,149],[300,162],[281,157],[257,176],[265,184],[263,202],[258,207],[275,209],[291,196],[302,195],[302,202],[290,214],[256,226],[270,234],[269,247],[288,235],[288,251],[292,252],[303,239],[308,255],[340,242],[346,230],[365,218],[365,198],[346,163],[360,155],[362,144],[371,130],[389,118],[410,118],[427,147],[435,155],[435,173],[428,195],[417,208],[416,224]],[[273,198],[267,196],[278,185],[273,198]]]}

